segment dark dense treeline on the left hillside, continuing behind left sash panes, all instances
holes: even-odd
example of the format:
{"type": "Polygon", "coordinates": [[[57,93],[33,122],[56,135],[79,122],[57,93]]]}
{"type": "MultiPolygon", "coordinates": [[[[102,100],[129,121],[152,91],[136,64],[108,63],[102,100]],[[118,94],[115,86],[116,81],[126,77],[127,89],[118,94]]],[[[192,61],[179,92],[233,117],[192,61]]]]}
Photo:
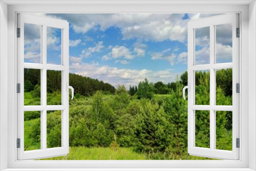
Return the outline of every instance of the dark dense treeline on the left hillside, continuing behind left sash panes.
{"type": "MultiPolygon", "coordinates": [[[[61,77],[61,71],[47,70],[48,93],[61,91],[61,77]]],[[[69,84],[74,88],[75,94],[82,96],[91,96],[96,91],[115,93],[115,88],[110,83],[72,73],[69,74],[69,84]]],[[[24,69],[24,91],[33,91],[35,97],[40,96],[40,70],[24,69]]]]}

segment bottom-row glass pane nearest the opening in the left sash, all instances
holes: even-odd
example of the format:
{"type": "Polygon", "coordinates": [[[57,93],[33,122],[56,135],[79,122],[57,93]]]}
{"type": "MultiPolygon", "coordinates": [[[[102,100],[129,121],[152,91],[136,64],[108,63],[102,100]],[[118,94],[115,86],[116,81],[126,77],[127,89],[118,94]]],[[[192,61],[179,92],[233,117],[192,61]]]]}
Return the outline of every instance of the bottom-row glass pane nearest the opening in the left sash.
{"type": "Polygon", "coordinates": [[[47,148],[61,146],[61,111],[47,111],[47,148]]]}

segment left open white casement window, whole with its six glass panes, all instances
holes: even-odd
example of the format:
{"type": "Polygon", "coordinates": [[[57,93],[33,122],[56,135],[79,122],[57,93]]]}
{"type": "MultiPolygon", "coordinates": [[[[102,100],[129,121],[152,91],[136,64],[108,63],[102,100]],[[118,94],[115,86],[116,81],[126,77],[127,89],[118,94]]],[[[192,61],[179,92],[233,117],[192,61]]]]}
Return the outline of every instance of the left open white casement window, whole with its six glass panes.
{"type": "Polygon", "coordinates": [[[17,141],[20,147],[17,148],[17,158],[24,160],[66,155],[69,153],[69,23],[49,17],[18,14],[18,28],[17,141]],[[49,46],[52,39],[48,36],[52,32],[59,35],[54,48],[49,46]],[[55,55],[51,56],[49,51],[56,51],[55,55]],[[58,73],[56,77],[52,77],[53,70],[58,73]],[[49,105],[50,84],[60,90],[55,95],[59,97],[56,105],[49,105]],[[26,97],[26,92],[31,92],[29,95],[34,97],[32,102],[26,97]],[[53,117],[53,113],[58,116],[53,117]],[[31,124],[25,124],[25,121],[31,117],[37,118],[34,120],[36,130],[33,134],[40,144],[33,147],[25,143],[32,131],[31,124]],[[49,124],[49,120],[60,123],[60,126],[49,124]],[[49,139],[51,130],[60,136],[49,139]]]}

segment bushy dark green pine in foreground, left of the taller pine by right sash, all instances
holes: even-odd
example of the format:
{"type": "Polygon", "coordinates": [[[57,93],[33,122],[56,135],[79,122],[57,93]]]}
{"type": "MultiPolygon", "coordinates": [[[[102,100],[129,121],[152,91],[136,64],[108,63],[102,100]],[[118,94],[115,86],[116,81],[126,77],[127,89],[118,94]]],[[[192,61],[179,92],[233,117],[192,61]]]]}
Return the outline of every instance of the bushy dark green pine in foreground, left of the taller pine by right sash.
{"type": "Polygon", "coordinates": [[[141,99],[135,135],[137,150],[147,153],[164,152],[170,143],[166,128],[169,126],[162,106],[148,99],[141,99]]]}

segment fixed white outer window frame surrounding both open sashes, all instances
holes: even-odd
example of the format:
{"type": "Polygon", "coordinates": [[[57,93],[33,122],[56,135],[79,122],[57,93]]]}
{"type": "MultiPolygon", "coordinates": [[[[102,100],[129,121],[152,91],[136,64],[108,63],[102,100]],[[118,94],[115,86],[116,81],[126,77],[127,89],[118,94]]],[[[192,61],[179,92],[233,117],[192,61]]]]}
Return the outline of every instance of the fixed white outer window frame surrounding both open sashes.
{"type": "MultiPolygon", "coordinates": [[[[168,2],[160,2],[160,1],[152,1],[152,2],[144,2],[144,4],[140,1],[133,2],[125,2],[120,3],[119,5],[113,5],[114,2],[106,1],[104,3],[109,5],[97,5],[96,2],[92,5],[92,2],[88,2],[87,5],[13,5],[8,7],[8,52],[3,51],[1,49],[1,53],[4,55],[8,55],[8,61],[2,58],[1,60],[8,64],[8,77],[4,76],[3,71],[1,71],[1,80],[8,81],[8,118],[1,113],[1,118],[5,120],[1,120],[0,127],[0,136],[1,136],[1,154],[0,160],[1,162],[7,161],[8,163],[5,164],[5,167],[2,168],[33,168],[36,170],[37,168],[48,168],[46,170],[51,170],[50,168],[157,168],[164,170],[163,168],[169,168],[168,170],[172,170],[171,168],[187,168],[184,170],[193,170],[193,168],[202,168],[201,170],[207,170],[207,168],[216,168],[216,170],[220,170],[218,168],[222,168],[221,170],[234,170],[234,168],[238,168],[237,170],[251,170],[256,169],[255,159],[255,102],[256,102],[256,90],[252,90],[250,94],[248,93],[248,82],[250,82],[249,87],[255,89],[256,79],[255,77],[255,4],[254,2],[242,2],[242,1],[222,1],[215,3],[208,3],[208,5],[198,5],[201,2],[198,1],[190,1],[189,5],[186,4],[187,2],[178,2],[173,1],[173,4],[168,4],[168,2]],[[106,3],[107,2],[107,3],[106,3]],[[223,5],[224,4],[227,5],[223,5]],[[90,4],[91,3],[91,4],[90,4]],[[162,5],[160,5],[162,3],[162,5]],[[183,5],[175,5],[176,4],[183,4],[183,5]],[[232,5],[232,3],[237,3],[240,5],[232,5]],[[247,4],[245,4],[247,3],[247,4]],[[250,5],[248,5],[251,3],[250,5]],[[112,5],[111,5],[112,4],[112,5]],[[191,5],[193,4],[193,5],[191,5]],[[209,5],[211,4],[211,5],[209,5]],[[212,5],[215,4],[215,5],[212,5]],[[230,5],[231,4],[231,5],[230,5]],[[243,5],[244,4],[244,5],[243,5]],[[248,15],[248,11],[249,14],[248,15]],[[240,13],[240,28],[241,28],[241,39],[240,39],[240,78],[241,78],[241,94],[240,94],[240,160],[232,161],[232,160],[224,160],[224,161],[17,161],[16,156],[16,133],[15,133],[15,125],[16,125],[16,38],[15,38],[15,28],[16,28],[16,13],[23,12],[38,12],[38,13],[138,13],[138,12],[150,12],[150,13],[233,13],[238,12],[240,13]],[[250,37],[248,36],[250,33],[250,37]],[[250,42],[250,44],[249,44],[250,42]],[[249,62],[249,60],[251,62],[249,62]],[[248,67],[251,67],[249,73],[248,67]],[[249,76],[252,78],[248,79],[249,76]],[[8,79],[7,79],[8,78],[8,79]],[[254,84],[253,84],[254,83],[254,84]],[[243,86],[244,85],[244,86],[243,86]],[[250,98],[250,101],[249,101],[250,98]],[[250,103],[249,103],[250,102],[250,103]],[[248,105],[249,103],[249,105],[248,105]],[[249,110],[250,109],[250,112],[249,110]],[[243,116],[243,117],[242,117],[243,116]],[[8,126],[3,124],[3,122],[8,121],[8,126]],[[6,128],[6,129],[5,129],[6,128]],[[6,131],[7,130],[7,131],[6,131]],[[249,131],[249,132],[248,132],[249,131]],[[6,133],[5,133],[6,132],[6,133]],[[15,134],[13,134],[15,133],[15,134]],[[249,134],[248,134],[249,133],[249,134]],[[5,141],[6,140],[6,141],[5,141]],[[3,141],[3,143],[2,143],[3,141]],[[8,150],[5,150],[6,146],[8,145],[8,150]],[[248,150],[250,148],[250,151],[248,150]],[[8,159],[4,157],[8,156],[8,159]],[[229,169],[228,169],[229,168],[229,169]]],[[[6,5],[2,3],[2,6],[6,8],[6,5]]],[[[8,1],[6,1],[8,3],[8,1]]],[[[11,3],[11,1],[10,1],[11,3]]],[[[14,2],[17,3],[17,2],[14,2]]],[[[26,3],[23,1],[19,1],[19,3],[26,3]]],[[[31,2],[32,3],[32,2],[31,2]]],[[[34,3],[34,2],[33,2],[34,3]]],[[[44,1],[44,3],[53,3],[44,1]]],[[[74,3],[77,3],[74,1],[74,3]]],[[[81,2],[80,2],[81,3],[81,2]]],[[[206,3],[206,2],[204,2],[206,3]]],[[[41,3],[42,4],[42,3],[41,3]]],[[[206,3],[207,4],[207,3],[206,3]]],[[[0,9],[0,12],[1,9],[0,9]]],[[[6,10],[4,10],[4,14],[7,14],[6,10]]],[[[1,16],[3,17],[3,15],[1,16]]],[[[3,20],[0,20],[3,22],[3,20]]],[[[1,23],[2,24],[2,23],[1,23]]],[[[5,23],[6,26],[6,23],[5,23]]],[[[2,25],[3,27],[3,25],[2,25]]],[[[3,33],[7,33],[5,30],[0,30],[1,35],[3,33]],[[3,32],[3,33],[2,33],[3,32]]],[[[0,40],[2,44],[0,45],[1,48],[7,47],[7,45],[3,44],[3,40],[0,40]]],[[[1,68],[0,68],[1,69],[1,68]]],[[[3,88],[5,85],[1,87],[1,93],[4,92],[3,88]]],[[[6,91],[6,90],[5,90],[6,91]]],[[[6,94],[7,95],[7,94],[6,94]]],[[[2,97],[1,97],[2,98],[2,97]]],[[[3,103],[1,101],[1,106],[3,103]]],[[[61,169],[60,169],[61,170],[61,169]]],[[[71,170],[71,169],[70,169],[71,170]]],[[[84,169],[86,170],[86,169],[84,169]]],[[[89,170],[89,169],[88,169],[89,170]]],[[[111,169],[113,170],[113,169],[111,169]]],[[[117,169],[116,169],[117,170],[117,169]]],[[[118,169],[119,170],[119,169],[118,169]]],[[[121,170],[121,169],[120,169],[121,170]]],[[[131,169],[132,170],[132,169],[131,169]]],[[[135,170],[135,169],[134,169],[135,170]]],[[[166,169],[167,170],[167,169],[166,169]]],[[[209,169],[208,169],[209,170],[209,169]]],[[[212,169],[211,169],[212,170],[212,169]]]]}

